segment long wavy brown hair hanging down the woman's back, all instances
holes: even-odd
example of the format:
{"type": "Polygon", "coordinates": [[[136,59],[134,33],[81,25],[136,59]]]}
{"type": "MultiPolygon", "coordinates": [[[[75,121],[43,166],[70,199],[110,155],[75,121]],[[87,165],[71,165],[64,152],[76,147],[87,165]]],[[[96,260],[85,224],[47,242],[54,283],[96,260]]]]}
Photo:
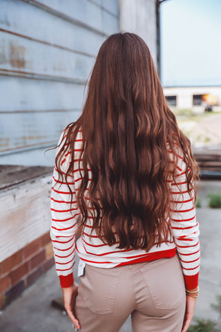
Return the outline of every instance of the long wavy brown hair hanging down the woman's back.
{"type": "MultiPolygon", "coordinates": [[[[178,151],[182,151],[194,203],[198,165],[189,138],[177,127],[166,104],[151,53],[141,37],[116,33],[99,49],[83,111],[66,127],[64,144],[55,159],[59,176],[67,184],[68,174],[74,172],[73,151],[79,129],[84,175],[80,170],[77,203],[83,228],[89,209],[84,199],[89,165],[92,232],[95,230],[99,239],[109,246],[146,251],[155,243],[160,246],[168,241],[172,210],[169,178],[180,187],[178,151]],[[64,175],[61,159],[68,152],[71,162],[64,175]]],[[[70,194],[73,198],[71,190],[70,194]]]]}

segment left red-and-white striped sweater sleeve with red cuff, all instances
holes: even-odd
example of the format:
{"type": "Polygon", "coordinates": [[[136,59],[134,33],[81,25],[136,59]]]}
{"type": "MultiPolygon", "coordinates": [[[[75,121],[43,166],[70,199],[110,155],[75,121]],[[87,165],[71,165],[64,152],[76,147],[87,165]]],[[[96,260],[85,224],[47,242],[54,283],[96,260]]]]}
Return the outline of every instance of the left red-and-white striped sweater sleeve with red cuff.
{"type": "MultiPolygon", "coordinates": [[[[62,143],[63,135],[62,133],[59,139],[61,145],[57,147],[56,155],[64,144],[62,143]]],[[[64,174],[69,165],[68,156],[69,154],[66,154],[61,160],[61,172],[64,174]]],[[[74,282],[75,234],[77,232],[77,217],[80,214],[76,201],[74,176],[68,176],[68,185],[64,179],[59,180],[59,173],[57,168],[54,167],[50,195],[50,238],[55,257],[55,267],[62,288],[69,287],[74,282]],[[73,192],[71,206],[71,195],[68,185],[73,192]]]]}

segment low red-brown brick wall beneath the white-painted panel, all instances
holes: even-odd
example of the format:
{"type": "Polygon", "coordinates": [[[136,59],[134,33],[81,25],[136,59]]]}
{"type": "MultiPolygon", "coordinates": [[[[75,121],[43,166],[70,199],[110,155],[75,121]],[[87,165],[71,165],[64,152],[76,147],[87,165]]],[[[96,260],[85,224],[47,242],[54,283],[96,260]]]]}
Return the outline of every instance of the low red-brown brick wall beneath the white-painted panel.
{"type": "Polygon", "coordinates": [[[54,264],[50,232],[1,261],[0,308],[18,297],[54,264]]]}

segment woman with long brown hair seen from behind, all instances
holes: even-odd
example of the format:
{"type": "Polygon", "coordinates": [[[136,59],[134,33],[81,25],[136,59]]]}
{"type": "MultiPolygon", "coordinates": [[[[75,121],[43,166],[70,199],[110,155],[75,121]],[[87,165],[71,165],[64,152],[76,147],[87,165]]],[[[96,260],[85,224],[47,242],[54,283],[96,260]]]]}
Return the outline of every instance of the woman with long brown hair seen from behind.
{"type": "Polygon", "coordinates": [[[145,42],[111,35],[52,181],[50,237],[75,331],[116,332],[131,314],[133,332],[186,332],[198,297],[196,176],[145,42]]]}

